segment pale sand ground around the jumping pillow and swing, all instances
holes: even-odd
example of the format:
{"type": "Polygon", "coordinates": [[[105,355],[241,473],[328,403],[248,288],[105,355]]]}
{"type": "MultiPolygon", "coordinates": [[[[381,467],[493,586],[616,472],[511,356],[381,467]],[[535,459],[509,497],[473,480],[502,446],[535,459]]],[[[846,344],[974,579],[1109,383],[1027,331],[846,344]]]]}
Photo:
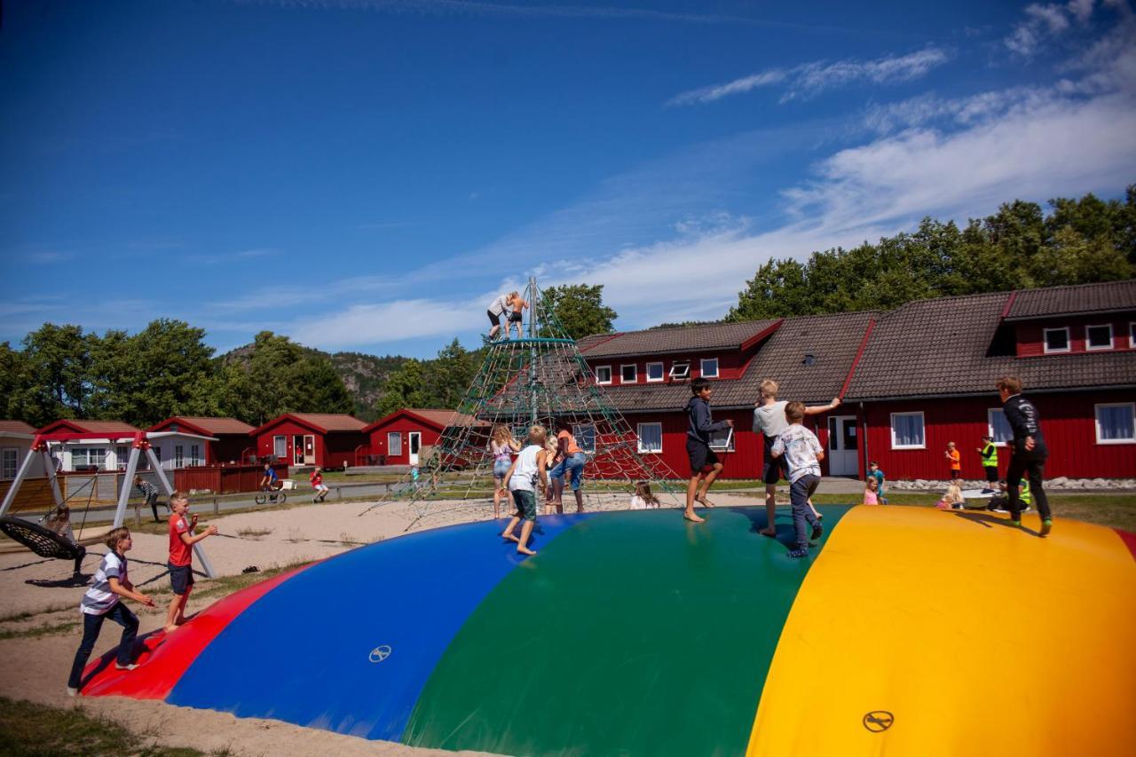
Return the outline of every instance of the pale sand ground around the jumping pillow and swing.
{"type": "MultiPolygon", "coordinates": [[[[719,506],[753,505],[760,496],[717,493],[719,506]]],[[[366,515],[360,513],[370,502],[312,505],[284,510],[265,510],[220,516],[210,521],[201,515],[200,525],[216,523],[220,534],[202,542],[218,576],[240,574],[256,565],[261,569],[323,559],[353,549],[361,543],[402,535],[412,531],[435,529],[453,523],[488,519],[492,506],[486,502],[435,502],[426,517],[418,519],[418,509],[403,502],[384,504],[366,515]]],[[[566,502],[567,505],[567,502],[566,502]]],[[[588,509],[616,509],[618,500],[592,501],[588,509]]],[[[573,509],[570,506],[566,509],[573,509]]],[[[675,517],[679,517],[676,511],[675,517]]],[[[140,591],[166,589],[165,535],[139,533],[128,554],[130,575],[140,591]]],[[[106,548],[89,547],[84,573],[93,574],[106,548]]],[[[64,625],[75,623],[83,585],[69,581],[72,565],[62,560],[42,559],[32,552],[0,555],[0,630],[64,625]],[[28,613],[32,617],[11,619],[28,613]]],[[[198,576],[199,590],[207,583],[198,576]]],[[[190,598],[190,613],[198,612],[216,598],[195,602],[190,598]]],[[[142,623],[141,633],[159,629],[165,622],[166,597],[158,607],[131,604],[142,623]]],[[[141,701],[122,697],[70,699],[66,696],[67,673],[80,642],[80,629],[73,626],[58,633],[36,638],[0,640],[0,696],[67,707],[80,705],[87,712],[109,717],[127,729],[152,738],[156,743],[186,747],[203,751],[229,749],[236,755],[452,755],[456,752],[418,749],[386,741],[368,741],[328,731],[306,729],[279,721],[236,718],[227,713],[175,707],[160,701],[141,701]]],[[[95,646],[92,659],[112,649],[118,642],[117,626],[108,625],[95,646]]],[[[471,752],[463,752],[471,754],[471,752]]]]}

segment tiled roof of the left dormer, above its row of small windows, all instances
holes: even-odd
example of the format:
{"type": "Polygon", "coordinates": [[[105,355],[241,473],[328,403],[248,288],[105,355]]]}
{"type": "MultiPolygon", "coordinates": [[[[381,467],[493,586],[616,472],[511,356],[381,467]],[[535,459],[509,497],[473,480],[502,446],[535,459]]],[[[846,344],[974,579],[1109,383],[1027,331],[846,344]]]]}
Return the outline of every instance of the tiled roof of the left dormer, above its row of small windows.
{"type": "Polygon", "coordinates": [[[701,352],[705,350],[740,349],[777,319],[745,321],[743,323],[715,323],[701,326],[674,326],[628,331],[618,334],[585,336],[576,346],[587,359],[600,357],[666,355],[668,352],[701,352]]]}

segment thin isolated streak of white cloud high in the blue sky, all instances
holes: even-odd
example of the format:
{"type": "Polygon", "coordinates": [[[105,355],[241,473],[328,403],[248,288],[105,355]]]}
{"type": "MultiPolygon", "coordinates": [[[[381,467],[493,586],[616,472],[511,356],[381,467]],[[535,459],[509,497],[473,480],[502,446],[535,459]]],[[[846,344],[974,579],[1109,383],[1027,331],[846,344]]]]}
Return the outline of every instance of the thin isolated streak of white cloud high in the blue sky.
{"type": "Polygon", "coordinates": [[[924,76],[932,68],[947,61],[947,55],[938,48],[926,48],[905,56],[887,56],[876,60],[817,60],[792,68],[771,68],[742,78],[682,92],[667,105],[682,106],[698,102],[713,102],[732,94],[742,94],[762,86],[783,86],[782,102],[794,98],[807,98],[824,90],[844,86],[854,82],[885,84],[907,82],[924,76]]]}

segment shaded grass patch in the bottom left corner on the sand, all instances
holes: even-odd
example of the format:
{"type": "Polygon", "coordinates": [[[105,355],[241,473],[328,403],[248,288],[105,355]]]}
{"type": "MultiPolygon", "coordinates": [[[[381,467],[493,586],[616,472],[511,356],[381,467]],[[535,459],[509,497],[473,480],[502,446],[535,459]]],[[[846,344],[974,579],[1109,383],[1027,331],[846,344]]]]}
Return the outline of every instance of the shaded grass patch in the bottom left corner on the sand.
{"type": "Polygon", "coordinates": [[[5,737],[0,755],[11,757],[203,757],[207,754],[187,747],[147,743],[142,735],[82,707],[51,707],[5,697],[0,697],[0,733],[5,737]]]}

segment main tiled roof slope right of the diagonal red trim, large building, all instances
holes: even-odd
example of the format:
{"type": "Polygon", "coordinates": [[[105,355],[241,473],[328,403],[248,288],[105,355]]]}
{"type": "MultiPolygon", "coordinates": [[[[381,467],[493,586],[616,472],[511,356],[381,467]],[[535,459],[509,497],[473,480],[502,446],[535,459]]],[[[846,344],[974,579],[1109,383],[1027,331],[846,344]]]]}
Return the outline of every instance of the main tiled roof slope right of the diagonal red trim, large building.
{"type": "Polygon", "coordinates": [[[1027,391],[1136,385],[1134,350],[1026,358],[996,353],[995,335],[1009,328],[1001,325],[1009,297],[944,297],[886,314],[845,399],[994,394],[994,382],[1005,374],[1019,376],[1027,391]]]}

